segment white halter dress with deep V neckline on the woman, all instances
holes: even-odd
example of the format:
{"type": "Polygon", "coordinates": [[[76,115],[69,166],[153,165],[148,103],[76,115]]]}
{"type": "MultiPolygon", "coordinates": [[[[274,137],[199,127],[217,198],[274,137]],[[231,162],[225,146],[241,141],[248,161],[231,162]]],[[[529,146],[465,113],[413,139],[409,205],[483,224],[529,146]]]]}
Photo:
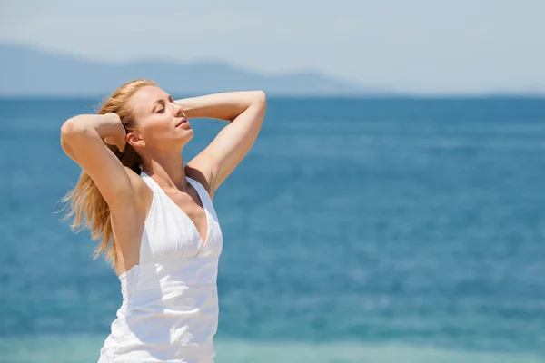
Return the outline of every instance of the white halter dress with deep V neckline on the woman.
{"type": "Polygon", "coordinates": [[[154,199],[140,262],[119,276],[123,303],[99,363],[213,362],[218,324],[217,271],[223,237],[201,183],[187,178],[206,213],[206,240],[193,221],[142,172],[154,199]]]}

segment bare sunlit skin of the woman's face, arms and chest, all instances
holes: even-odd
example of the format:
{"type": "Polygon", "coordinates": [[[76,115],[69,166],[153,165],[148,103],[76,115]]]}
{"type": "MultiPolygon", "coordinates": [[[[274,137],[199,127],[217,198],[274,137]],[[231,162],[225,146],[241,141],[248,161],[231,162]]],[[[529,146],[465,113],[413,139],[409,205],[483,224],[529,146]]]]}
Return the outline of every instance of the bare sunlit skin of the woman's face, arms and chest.
{"type": "Polygon", "coordinates": [[[253,146],[266,108],[261,91],[216,93],[174,100],[160,87],[144,85],[126,102],[134,114],[134,129],[125,131],[115,113],[79,115],[67,120],[61,143],[107,202],[117,264],[122,273],[138,264],[139,243],[153,191],[134,168],[124,166],[105,147],[124,152],[131,145],[142,158],[140,168],[157,182],[168,197],[193,221],[206,240],[206,216],[198,193],[187,181],[200,182],[214,192],[253,146]],[[227,121],[223,130],[190,162],[183,162],[183,147],[194,136],[192,118],[227,121]],[[104,140],[104,142],[103,142],[104,140]]]}

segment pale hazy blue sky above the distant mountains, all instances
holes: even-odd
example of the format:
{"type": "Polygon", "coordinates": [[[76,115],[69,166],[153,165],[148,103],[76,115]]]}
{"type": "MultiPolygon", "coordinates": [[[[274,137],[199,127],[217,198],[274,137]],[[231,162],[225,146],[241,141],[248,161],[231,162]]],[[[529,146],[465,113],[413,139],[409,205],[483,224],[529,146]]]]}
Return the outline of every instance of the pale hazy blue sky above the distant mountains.
{"type": "Polygon", "coordinates": [[[411,93],[545,93],[544,0],[2,0],[0,42],[411,93]]]}

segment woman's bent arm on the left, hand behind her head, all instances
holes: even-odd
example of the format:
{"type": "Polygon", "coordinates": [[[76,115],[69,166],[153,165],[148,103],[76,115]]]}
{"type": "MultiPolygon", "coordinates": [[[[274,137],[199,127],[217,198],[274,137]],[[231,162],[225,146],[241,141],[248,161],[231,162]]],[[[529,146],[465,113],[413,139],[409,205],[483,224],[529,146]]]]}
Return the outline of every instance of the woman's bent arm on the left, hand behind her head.
{"type": "Polygon", "coordinates": [[[132,185],[123,164],[102,139],[116,140],[124,150],[124,137],[124,127],[115,113],[75,116],[61,127],[64,152],[93,179],[110,207],[122,197],[130,199],[132,185]]]}

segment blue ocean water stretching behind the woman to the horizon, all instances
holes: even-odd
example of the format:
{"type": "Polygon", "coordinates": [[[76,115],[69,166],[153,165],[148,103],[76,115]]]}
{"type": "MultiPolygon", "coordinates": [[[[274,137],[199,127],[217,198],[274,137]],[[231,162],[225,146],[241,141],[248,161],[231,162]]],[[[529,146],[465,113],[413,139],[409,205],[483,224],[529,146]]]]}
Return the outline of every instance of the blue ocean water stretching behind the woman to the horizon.
{"type": "MultiPolygon", "coordinates": [[[[2,362],[94,362],[121,303],[55,213],[96,103],[0,100],[2,362]]],[[[217,361],[545,361],[544,140],[545,99],[270,99],[214,198],[217,361]]]]}

